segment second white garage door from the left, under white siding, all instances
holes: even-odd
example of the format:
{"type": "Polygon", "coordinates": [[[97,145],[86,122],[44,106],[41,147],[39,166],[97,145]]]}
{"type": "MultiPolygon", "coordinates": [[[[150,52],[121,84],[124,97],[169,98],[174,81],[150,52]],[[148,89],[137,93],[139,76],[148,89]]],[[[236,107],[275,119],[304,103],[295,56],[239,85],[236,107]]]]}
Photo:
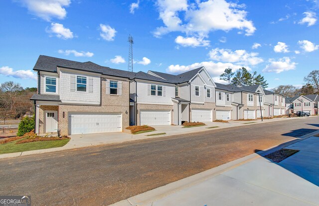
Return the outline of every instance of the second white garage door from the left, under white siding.
{"type": "Polygon", "coordinates": [[[141,125],[170,125],[170,110],[141,110],[141,125]]]}

